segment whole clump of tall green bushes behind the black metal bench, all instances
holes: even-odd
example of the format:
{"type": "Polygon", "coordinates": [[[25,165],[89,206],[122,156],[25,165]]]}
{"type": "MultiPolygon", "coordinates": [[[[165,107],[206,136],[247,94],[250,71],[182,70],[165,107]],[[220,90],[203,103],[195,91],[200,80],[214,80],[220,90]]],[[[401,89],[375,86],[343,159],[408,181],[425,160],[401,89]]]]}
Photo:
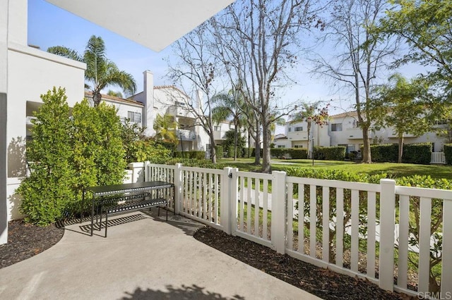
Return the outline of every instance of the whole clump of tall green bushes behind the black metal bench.
{"type": "Polygon", "coordinates": [[[126,161],[113,106],[93,108],[84,100],[73,107],[71,120],[64,89],[41,97],[27,149],[32,172],[18,194],[25,220],[48,225],[88,206],[88,200],[81,203],[83,188],[121,183],[126,161]]]}

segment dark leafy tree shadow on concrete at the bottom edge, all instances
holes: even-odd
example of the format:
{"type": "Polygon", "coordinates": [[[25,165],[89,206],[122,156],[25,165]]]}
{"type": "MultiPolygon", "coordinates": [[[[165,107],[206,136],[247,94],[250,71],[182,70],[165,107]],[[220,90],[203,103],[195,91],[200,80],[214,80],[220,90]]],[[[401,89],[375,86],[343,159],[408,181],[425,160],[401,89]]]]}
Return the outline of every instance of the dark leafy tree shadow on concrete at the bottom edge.
{"type": "Polygon", "coordinates": [[[121,300],[126,299],[200,299],[200,300],[240,300],[245,299],[243,296],[234,295],[232,298],[222,296],[221,294],[206,291],[205,287],[198,287],[197,285],[182,287],[173,287],[172,285],[166,286],[167,291],[161,291],[159,289],[141,289],[138,287],[134,292],[126,292],[126,296],[121,300]]]}

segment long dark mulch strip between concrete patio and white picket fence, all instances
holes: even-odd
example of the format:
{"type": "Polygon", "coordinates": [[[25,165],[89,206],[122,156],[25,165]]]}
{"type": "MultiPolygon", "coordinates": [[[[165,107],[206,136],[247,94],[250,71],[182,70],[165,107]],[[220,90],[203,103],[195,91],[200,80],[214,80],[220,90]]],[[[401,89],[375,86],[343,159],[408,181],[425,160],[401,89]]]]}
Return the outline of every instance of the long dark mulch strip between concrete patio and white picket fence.
{"type": "Polygon", "coordinates": [[[367,280],[319,268],[287,254],[278,254],[266,246],[227,235],[213,227],[201,228],[194,237],[208,246],[322,299],[416,299],[405,294],[386,292],[367,280]]]}

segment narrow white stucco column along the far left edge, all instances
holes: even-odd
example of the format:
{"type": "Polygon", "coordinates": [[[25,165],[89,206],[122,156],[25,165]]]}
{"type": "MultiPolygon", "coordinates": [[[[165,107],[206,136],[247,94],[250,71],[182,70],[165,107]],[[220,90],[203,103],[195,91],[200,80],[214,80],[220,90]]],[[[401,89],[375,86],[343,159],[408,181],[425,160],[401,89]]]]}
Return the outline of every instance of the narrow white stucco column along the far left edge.
{"type": "Polygon", "coordinates": [[[6,199],[6,105],[8,89],[8,0],[0,0],[0,244],[8,241],[6,199]]]}

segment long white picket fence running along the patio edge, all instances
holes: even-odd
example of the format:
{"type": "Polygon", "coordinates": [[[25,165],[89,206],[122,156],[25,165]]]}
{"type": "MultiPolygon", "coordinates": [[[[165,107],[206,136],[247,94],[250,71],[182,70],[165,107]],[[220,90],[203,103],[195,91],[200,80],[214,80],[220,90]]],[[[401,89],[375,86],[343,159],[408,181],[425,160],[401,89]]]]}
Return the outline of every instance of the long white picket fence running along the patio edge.
{"type": "Polygon", "coordinates": [[[376,185],[180,164],[145,163],[143,171],[146,181],[174,182],[172,207],[180,215],[281,254],[413,296],[417,294],[408,286],[408,256],[417,254],[410,250],[409,222],[420,224],[417,292],[429,292],[432,201],[441,201],[441,293],[451,292],[452,191],[400,187],[393,180],[376,185]],[[420,220],[412,220],[413,201],[419,203],[420,220]]]}

